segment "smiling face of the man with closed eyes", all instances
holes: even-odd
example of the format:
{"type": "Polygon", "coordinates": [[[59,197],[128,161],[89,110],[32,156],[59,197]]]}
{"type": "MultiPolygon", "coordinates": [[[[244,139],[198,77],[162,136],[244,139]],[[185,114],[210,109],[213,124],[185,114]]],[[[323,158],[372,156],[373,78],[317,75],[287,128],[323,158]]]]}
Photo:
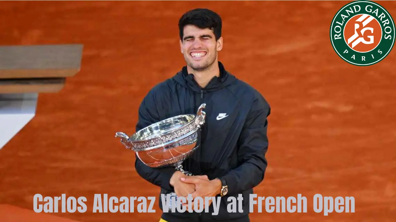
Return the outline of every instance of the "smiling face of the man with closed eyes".
{"type": "Polygon", "coordinates": [[[193,25],[184,27],[180,49],[187,65],[197,71],[208,68],[217,59],[217,52],[223,47],[223,38],[216,41],[209,28],[201,29],[193,25]]]}

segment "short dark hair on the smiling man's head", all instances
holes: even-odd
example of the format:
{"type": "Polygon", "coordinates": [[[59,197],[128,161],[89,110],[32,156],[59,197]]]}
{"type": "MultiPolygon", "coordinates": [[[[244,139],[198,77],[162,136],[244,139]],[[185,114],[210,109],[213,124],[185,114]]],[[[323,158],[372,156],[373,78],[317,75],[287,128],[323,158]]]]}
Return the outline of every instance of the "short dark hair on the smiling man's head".
{"type": "Polygon", "coordinates": [[[215,34],[216,40],[221,37],[221,17],[209,9],[196,8],[184,13],[179,20],[180,40],[183,40],[184,26],[192,24],[198,28],[209,28],[215,34]]]}

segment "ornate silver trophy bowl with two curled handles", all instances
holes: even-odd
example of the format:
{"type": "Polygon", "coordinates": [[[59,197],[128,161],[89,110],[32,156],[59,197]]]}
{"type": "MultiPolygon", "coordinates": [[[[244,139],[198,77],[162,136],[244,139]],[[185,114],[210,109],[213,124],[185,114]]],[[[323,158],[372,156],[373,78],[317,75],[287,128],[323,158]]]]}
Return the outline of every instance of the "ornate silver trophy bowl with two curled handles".
{"type": "Polygon", "coordinates": [[[137,157],[147,166],[174,166],[186,175],[183,161],[198,147],[201,126],[206,113],[202,111],[205,103],[200,105],[197,114],[185,114],[171,117],[147,126],[128,137],[124,132],[117,132],[116,137],[126,149],[135,151],[137,157]]]}

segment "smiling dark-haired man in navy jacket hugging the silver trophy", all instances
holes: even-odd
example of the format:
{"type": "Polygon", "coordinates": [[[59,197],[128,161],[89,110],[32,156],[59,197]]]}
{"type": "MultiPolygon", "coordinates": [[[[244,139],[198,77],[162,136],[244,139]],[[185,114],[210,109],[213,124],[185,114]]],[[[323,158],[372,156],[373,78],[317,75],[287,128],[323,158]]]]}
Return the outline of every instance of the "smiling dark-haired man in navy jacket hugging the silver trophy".
{"type": "MultiPolygon", "coordinates": [[[[264,179],[270,106],[257,90],[237,79],[218,61],[222,21],[208,9],[194,9],[179,20],[180,50],[187,66],[157,84],[139,107],[136,130],[176,115],[196,114],[206,103],[201,147],[183,163],[187,177],[173,167],[151,168],[136,158],[137,173],[161,188],[187,198],[221,196],[218,215],[188,211],[162,214],[162,221],[249,221],[249,194],[264,179]],[[242,210],[228,213],[227,198],[242,194],[242,210]]],[[[248,73],[244,73],[248,74],[248,73]]],[[[163,209],[161,199],[160,208],[163,209]]],[[[201,206],[204,207],[204,206],[201,206]]],[[[194,207],[192,207],[194,209],[194,207]]],[[[203,208],[204,209],[204,208],[203,208]]]]}

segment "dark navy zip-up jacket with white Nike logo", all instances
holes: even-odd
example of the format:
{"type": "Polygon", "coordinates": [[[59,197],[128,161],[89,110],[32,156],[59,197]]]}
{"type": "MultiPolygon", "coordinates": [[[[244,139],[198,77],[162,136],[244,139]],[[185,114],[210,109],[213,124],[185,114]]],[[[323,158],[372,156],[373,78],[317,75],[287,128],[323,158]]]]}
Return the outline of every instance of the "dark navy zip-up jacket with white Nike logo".
{"type": "MultiPolygon", "coordinates": [[[[169,117],[196,114],[198,107],[206,103],[202,147],[185,160],[183,169],[193,175],[207,175],[210,180],[223,178],[228,185],[227,196],[221,198],[219,215],[211,215],[211,206],[209,213],[164,213],[165,220],[173,221],[175,215],[188,221],[246,218],[249,194],[264,179],[270,106],[257,90],[225,70],[221,62],[219,68],[220,77],[214,77],[208,86],[201,88],[185,66],[175,76],[153,87],[139,107],[136,131],[169,117]],[[217,120],[220,113],[226,113],[227,117],[217,120]],[[228,213],[228,196],[238,197],[238,194],[243,195],[244,212],[228,213]]],[[[143,179],[159,186],[161,193],[173,192],[169,184],[175,172],[173,167],[152,168],[136,158],[135,168],[143,179]]]]}

